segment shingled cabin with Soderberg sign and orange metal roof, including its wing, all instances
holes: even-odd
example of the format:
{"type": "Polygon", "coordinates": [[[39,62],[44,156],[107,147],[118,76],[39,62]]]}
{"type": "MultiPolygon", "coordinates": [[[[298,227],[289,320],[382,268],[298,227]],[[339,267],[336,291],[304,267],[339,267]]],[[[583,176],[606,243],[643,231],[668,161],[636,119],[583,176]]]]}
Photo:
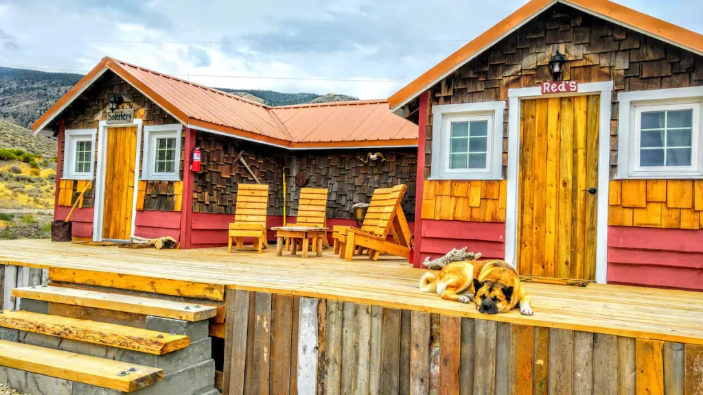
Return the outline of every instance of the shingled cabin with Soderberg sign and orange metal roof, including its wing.
{"type": "Polygon", "coordinates": [[[413,221],[417,128],[385,100],[269,107],[104,58],[33,129],[58,136],[55,216],[77,203],[79,239],[226,245],[239,183],[270,185],[269,228],[295,219],[300,186],[328,188],[331,229],[356,224],[352,205],[375,188],[404,183],[413,221]]]}

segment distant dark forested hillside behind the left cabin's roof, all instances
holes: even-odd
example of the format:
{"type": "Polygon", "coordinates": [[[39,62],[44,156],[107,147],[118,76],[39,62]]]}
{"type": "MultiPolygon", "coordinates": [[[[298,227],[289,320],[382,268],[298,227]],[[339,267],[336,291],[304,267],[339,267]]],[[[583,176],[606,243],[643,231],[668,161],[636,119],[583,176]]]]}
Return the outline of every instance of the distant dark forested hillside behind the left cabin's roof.
{"type": "MultiPolygon", "coordinates": [[[[0,67],[0,119],[30,127],[53,103],[83,76],[79,74],[39,72],[0,67]]],[[[328,103],[358,100],[336,93],[284,93],[261,89],[226,89],[221,91],[243,96],[266,105],[328,103]]],[[[3,148],[3,145],[0,145],[3,148]]]]}

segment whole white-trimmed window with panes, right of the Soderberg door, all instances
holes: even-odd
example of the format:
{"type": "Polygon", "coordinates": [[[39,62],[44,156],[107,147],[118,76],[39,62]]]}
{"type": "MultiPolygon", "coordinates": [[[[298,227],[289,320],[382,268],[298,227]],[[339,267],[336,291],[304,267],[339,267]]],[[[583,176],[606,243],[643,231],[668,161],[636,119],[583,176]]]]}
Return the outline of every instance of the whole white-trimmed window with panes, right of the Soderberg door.
{"type": "Polygon", "coordinates": [[[181,165],[181,124],[144,127],[141,179],[178,181],[181,165]]]}

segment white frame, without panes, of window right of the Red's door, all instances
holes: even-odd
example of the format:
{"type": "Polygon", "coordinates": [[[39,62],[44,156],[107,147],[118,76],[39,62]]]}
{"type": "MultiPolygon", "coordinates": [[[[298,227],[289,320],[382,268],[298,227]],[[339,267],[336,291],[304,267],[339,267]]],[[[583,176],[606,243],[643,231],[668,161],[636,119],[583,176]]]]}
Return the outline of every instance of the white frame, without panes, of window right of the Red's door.
{"type": "Polygon", "coordinates": [[[618,95],[617,179],[703,179],[703,88],[625,92],[618,95]],[[690,166],[641,166],[643,112],[693,110],[690,166]]]}

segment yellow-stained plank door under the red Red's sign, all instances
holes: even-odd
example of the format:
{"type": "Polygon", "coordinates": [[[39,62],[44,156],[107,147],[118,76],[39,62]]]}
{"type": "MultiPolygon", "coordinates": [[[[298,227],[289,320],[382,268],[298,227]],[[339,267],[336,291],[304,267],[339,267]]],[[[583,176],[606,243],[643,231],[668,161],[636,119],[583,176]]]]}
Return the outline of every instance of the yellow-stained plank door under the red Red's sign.
{"type": "Polygon", "coordinates": [[[599,96],[522,102],[520,274],[595,280],[599,96]]]}

